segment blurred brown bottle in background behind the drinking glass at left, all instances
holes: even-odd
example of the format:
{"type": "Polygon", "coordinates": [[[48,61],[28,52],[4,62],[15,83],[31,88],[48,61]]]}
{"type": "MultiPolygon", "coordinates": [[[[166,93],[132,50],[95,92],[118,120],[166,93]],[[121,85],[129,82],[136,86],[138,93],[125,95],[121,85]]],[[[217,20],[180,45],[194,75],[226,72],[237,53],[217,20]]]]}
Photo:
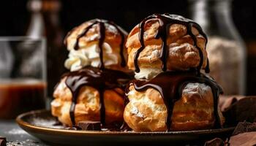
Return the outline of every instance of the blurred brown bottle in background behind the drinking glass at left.
{"type": "Polygon", "coordinates": [[[67,55],[63,45],[64,32],[59,19],[61,1],[29,0],[28,9],[31,12],[31,20],[26,35],[47,39],[48,96],[52,96],[54,86],[65,72],[63,64],[67,55]]]}

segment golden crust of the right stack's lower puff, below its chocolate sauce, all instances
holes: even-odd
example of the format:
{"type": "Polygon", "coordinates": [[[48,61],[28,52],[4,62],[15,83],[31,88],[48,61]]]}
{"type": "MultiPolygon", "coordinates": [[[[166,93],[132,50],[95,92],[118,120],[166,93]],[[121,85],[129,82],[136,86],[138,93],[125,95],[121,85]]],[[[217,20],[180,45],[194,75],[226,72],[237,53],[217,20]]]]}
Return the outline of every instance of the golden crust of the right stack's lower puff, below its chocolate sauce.
{"type": "MultiPolygon", "coordinates": [[[[166,131],[167,108],[162,96],[153,88],[135,91],[129,86],[129,103],[124,109],[124,121],[134,131],[166,131]]],[[[222,113],[219,117],[224,123],[222,113]]],[[[214,126],[214,101],[211,88],[200,84],[185,87],[181,99],[176,101],[171,117],[172,131],[187,131],[214,126]],[[187,89],[186,89],[187,88],[187,89]]]]}

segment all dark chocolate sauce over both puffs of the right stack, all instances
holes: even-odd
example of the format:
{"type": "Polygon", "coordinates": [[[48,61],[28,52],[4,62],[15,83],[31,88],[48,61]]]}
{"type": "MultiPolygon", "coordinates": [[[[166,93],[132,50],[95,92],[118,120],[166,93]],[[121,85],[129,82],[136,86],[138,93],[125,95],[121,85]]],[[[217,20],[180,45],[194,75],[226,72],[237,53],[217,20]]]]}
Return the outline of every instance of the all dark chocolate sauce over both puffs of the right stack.
{"type": "MultiPolygon", "coordinates": [[[[157,19],[159,22],[159,27],[157,28],[157,33],[155,34],[155,39],[162,39],[162,47],[161,47],[161,53],[160,53],[160,59],[162,61],[162,73],[158,74],[156,77],[154,77],[151,80],[132,80],[132,84],[135,87],[136,91],[146,91],[148,88],[154,88],[157,90],[160,95],[162,96],[162,99],[165,103],[165,107],[167,107],[167,117],[165,120],[167,131],[171,130],[171,117],[173,114],[173,106],[176,101],[181,99],[181,94],[184,89],[184,87],[189,82],[198,82],[198,83],[204,83],[211,87],[211,91],[214,96],[214,127],[215,128],[221,128],[221,120],[219,118],[218,113],[218,104],[219,104],[219,94],[223,93],[222,88],[215,82],[211,77],[208,77],[205,74],[200,73],[200,69],[203,66],[203,52],[200,50],[200,47],[197,46],[197,38],[192,33],[192,27],[197,28],[197,31],[199,31],[199,34],[201,34],[205,39],[207,43],[207,37],[206,34],[203,33],[202,28],[200,26],[193,22],[192,20],[189,20],[187,18],[183,18],[179,15],[170,15],[170,14],[154,14],[151,16],[148,16],[148,18],[145,18],[143,21],[139,24],[139,41],[140,41],[140,48],[135,53],[134,63],[135,63],[135,72],[140,72],[140,68],[138,66],[138,57],[145,48],[144,44],[144,27],[148,20],[151,19],[157,19]],[[183,26],[187,27],[187,35],[189,35],[193,42],[194,46],[199,51],[200,55],[200,64],[196,68],[191,68],[188,71],[178,71],[178,72],[170,72],[167,71],[167,57],[169,54],[169,50],[167,48],[167,32],[171,25],[173,24],[181,24],[183,26]]],[[[205,72],[210,72],[209,65],[208,65],[208,58],[207,58],[207,65],[205,72]]],[[[129,90],[129,88],[127,88],[129,90]]],[[[128,93],[129,91],[126,91],[128,93]]]]}

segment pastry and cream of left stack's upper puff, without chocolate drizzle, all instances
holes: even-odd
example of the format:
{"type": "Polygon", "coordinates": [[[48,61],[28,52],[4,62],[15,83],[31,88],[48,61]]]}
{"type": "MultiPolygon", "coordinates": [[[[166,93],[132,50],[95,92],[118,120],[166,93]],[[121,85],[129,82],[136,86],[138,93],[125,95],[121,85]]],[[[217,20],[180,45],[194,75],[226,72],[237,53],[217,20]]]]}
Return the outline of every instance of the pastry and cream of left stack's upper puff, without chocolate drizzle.
{"type": "MultiPolygon", "coordinates": [[[[98,20],[98,19],[95,19],[98,20]]],[[[99,38],[100,31],[98,23],[94,24],[89,28],[89,31],[80,39],[78,37],[80,34],[83,34],[84,30],[88,28],[95,20],[89,20],[85,23],[82,23],[80,26],[77,26],[69,31],[65,39],[65,44],[67,45],[67,50],[69,50],[69,57],[65,61],[64,66],[71,71],[76,71],[83,66],[94,66],[99,67],[100,58],[99,58],[99,38]],[[75,45],[78,42],[78,48],[75,49],[75,45]]],[[[115,24],[112,25],[107,20],[100,20],[105,26],[105,38],[102,43],[103,50],[103,62],[106,68],[124,70],[127,71],[127,67],[121,66],[121,42],[124,41],[127,37],[127,32],[124,31],[121,27],[115,24]],[[118,29],[120,31],[118,31],[118,29]],[[124,37],[124,38],[123,38],[124,37]]],[[[122,46],[122,47],[125,47],[122,46]]],[[[123,52],[124,59],[127,60],[127,50],[124,49],[123,52]]]]}

